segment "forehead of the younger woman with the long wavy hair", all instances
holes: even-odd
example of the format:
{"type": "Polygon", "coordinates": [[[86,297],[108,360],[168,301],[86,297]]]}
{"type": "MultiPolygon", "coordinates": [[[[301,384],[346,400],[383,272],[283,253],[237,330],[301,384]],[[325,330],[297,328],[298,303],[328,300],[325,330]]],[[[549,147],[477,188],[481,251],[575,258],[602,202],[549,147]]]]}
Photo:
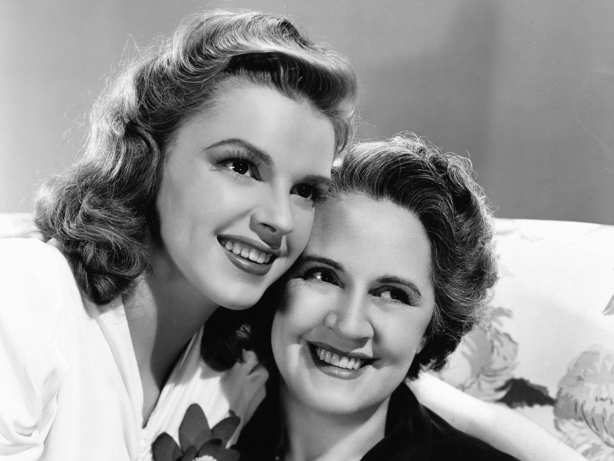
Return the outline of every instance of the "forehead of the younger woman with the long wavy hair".
{"type": "Polygon", "coordinates": [[[317,169],[318,174],[330,176],[335,155],[332,122],[306,101],[239,79],[222,87],[198,114],[185,120],[171,151],[236,139],[273,156],[278,166],[317,169]]]}

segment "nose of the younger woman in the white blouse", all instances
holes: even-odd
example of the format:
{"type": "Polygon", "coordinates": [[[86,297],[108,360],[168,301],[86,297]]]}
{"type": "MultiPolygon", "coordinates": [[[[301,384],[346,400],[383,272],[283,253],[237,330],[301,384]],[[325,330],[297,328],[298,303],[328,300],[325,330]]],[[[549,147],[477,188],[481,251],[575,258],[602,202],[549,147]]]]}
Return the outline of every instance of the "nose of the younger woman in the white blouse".
{"type": "Polygon", "coordinates": [[[250,227],[263,241],[279,245],[281,237],[294,229],[290,192],[278,190],[263,195],[252,213],[250,227]]]}

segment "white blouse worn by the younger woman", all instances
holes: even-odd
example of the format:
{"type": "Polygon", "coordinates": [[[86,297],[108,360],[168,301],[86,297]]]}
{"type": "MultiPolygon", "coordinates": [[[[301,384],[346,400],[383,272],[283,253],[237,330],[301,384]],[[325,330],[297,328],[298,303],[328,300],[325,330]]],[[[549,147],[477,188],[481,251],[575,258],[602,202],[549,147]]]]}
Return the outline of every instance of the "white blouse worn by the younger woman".
{"type": "Polygon", "coordinates": [[[84,302],[53,246],[0,240],[0,458],[149,461],[162,431],[178,443],[192,403],[210,427],[232,409],[240,430],[263,400],[268,374],[252,352],[213,371],[200,357],[202,334],[192,337],[142,427],[141,377],[122,302],[104,311],[84,302]]]}

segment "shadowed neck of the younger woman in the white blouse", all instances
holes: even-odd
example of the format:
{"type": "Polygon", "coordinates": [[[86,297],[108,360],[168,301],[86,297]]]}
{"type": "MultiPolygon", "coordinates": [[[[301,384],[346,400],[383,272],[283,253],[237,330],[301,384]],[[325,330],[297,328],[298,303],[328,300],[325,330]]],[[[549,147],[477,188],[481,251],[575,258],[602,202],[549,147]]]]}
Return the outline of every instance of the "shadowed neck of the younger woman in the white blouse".
{"type": "Polygon", "coordinates": [[[139,279],[123,303],[147,419],[171,366],[217,305],[185,280],[163,248],[152,249],[152,274],[139,279]]]}

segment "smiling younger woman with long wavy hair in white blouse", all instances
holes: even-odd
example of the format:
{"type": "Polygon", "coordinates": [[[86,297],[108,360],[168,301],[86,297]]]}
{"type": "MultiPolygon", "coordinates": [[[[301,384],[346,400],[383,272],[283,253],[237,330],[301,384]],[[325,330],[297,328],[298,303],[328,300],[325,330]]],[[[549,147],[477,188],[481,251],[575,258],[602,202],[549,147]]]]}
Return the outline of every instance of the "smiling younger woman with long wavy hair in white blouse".
{"type": "Polygon", "coordinates": [[[148,460],[192,403],[249,419],[266,371],[206,365],[202,326],[301,253],[356,95],[345,58],[255,12],[196,15],[122,71],[41,192],[57,248],[0,242],[0,457],[148,460]]]}

